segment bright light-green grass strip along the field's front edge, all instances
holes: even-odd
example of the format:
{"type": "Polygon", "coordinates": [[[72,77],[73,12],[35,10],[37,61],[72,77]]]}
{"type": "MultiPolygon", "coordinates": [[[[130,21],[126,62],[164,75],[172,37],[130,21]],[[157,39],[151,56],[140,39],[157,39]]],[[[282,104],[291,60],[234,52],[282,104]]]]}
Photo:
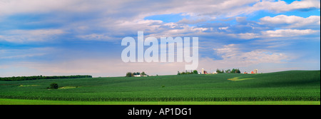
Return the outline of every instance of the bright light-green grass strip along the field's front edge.
{"type": "Polygon", "coordinates": [[[320,105],[320,101],[180,101],[180,102],[128,102],[128,101],[61,101],[0,99],[0,105],[320,105]]]}

